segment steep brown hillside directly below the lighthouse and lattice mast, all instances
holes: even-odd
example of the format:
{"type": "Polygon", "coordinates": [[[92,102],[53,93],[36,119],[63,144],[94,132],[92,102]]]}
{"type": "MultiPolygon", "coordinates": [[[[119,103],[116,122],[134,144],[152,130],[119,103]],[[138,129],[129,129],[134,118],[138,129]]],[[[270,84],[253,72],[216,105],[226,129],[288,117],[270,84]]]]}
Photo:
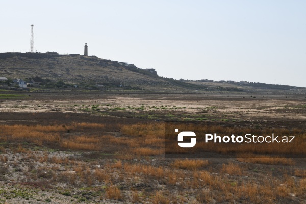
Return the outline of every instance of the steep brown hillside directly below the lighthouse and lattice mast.
{"type": "MultiPolygon", "coordinates": [[[[156,73],[136,66],[127,67],[96,56],[59,55],[52,52],[0,53],[0,75],[8,79],[38,76],[82,87],[101,84],[108,87],[177,88],[156,73]]],[[[184,84],[189,86],[188,83],[184,84]]]]}

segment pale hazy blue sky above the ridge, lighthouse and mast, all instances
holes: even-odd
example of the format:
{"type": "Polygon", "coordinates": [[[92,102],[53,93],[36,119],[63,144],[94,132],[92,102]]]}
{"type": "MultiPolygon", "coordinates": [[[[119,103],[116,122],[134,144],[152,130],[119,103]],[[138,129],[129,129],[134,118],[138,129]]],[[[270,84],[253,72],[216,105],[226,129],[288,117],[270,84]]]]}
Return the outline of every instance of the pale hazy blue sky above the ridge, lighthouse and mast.
{"type": "Polygon", "coordinates": [[[88,54],[163,77],[306,87],[306,1],[2,1],[0,52],[88,54]]]}

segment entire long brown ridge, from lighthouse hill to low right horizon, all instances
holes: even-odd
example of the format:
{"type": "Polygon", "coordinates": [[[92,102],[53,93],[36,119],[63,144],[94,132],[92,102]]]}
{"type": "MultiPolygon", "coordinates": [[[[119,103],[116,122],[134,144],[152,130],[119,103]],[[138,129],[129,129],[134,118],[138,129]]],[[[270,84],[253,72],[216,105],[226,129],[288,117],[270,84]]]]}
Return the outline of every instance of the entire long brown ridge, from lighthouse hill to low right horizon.
{"type": "MultiPolygon", "coordinates": [[[[175,80],[157,75],[153,69],[140,69],[135,65],[79,54],[59,55],[47,53],[0,53],[0,77],[10,80],[42,79],[43,87],[96,87],[145,90],[210,90],[256,91],[293,90],[302,87],[263,83],[220,83],[175,80]],[[64,85],[64,86],[63,86],[64,85]]],[[[203,77],[203,76],[201,76],[203,77]]]]}

